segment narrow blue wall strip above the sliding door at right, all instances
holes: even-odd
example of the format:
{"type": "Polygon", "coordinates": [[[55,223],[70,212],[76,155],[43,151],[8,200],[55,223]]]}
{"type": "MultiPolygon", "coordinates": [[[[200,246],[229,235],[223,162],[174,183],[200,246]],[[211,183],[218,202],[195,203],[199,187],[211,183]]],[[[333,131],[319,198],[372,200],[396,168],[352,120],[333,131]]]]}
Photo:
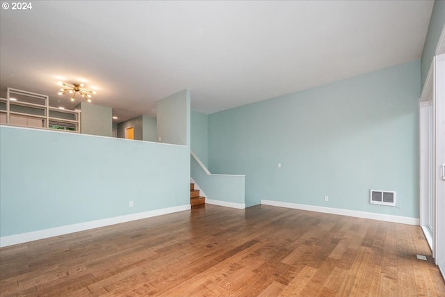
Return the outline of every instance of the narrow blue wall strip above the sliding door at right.
{"type": "Polygon", "coordinates": [[[421,88],[425,84],[428,70],[432,62],[432,57],[435,56],[437,42],[440,34],[444,29],[445,24],[445,1],[435,1],[432,7],[432,14],[430,19],[430,26],[428,26],[428,33],[426,35],[425,45],[423,45],[421,58],[421,88]]]}

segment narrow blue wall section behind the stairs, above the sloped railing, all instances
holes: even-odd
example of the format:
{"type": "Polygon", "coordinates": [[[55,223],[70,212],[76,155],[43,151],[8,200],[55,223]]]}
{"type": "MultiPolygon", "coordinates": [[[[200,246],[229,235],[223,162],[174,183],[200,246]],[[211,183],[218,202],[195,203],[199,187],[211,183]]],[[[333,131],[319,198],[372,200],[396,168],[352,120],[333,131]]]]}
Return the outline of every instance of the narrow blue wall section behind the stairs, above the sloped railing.
{"type": "Polygon", "coordinates": [[[208,165],[208,136],[209,122],[207,114],[191,111],[191,149],[200,158],[204,166],[208,165]]]}

